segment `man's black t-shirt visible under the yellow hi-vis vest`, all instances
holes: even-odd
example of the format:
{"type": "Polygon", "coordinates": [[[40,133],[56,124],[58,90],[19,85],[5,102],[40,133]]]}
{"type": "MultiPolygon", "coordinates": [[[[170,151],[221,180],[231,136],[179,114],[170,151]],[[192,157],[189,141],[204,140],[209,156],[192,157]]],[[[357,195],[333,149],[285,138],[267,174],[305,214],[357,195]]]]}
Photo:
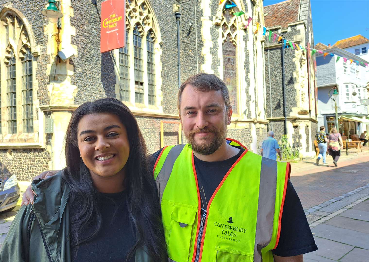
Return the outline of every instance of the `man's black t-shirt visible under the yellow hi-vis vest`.
{"type": "MultiPolygon", "coordinates": [[[[194,156],[201,198],[201,213],[206,212],[207,203],[215,189],[244,151],[241,147],[237,148],[240,149],[239,153],[224,161],[207,162],[194,156]]],[[[152,168],[154,168],[161,150],[149,157],[149,163],[152,168]]],[[[277,256],[297,256],[313,252],[317,249],[299,196],[297,196],[292,183],[288,181],[282,212],[279,242],[277,248],[273,249],[272,252],[277,256]]]]}

